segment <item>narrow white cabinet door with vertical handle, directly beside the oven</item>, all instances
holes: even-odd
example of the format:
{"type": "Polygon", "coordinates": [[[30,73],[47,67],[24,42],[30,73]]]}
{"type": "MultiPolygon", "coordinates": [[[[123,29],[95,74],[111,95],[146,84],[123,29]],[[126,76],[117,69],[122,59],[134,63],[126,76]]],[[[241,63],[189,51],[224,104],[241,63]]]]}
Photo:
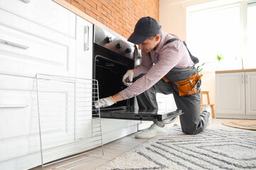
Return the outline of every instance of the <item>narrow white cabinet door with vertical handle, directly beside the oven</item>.
{"type": "MultiPolygon", "coordinates": [[[[92,23],[76,16],[76,77],[92,79],[92,23]]],[[[92,127],[92,86],[83,89],[84,93],[78,95],[81,100],[86,100],[86,106],[82,105],[83,112],[75,113],[75,140],[92,137],[95,128],[92,127]]],[[[81,90],[80,90],[81,91],[81,90]]],[[[77,104],[80,104],[77,98],[77,104]]],[[[85,102],[82,102],[85,104],[85,102]]],[[[95,120],[98,124],[99,120],[95,120]]]]}

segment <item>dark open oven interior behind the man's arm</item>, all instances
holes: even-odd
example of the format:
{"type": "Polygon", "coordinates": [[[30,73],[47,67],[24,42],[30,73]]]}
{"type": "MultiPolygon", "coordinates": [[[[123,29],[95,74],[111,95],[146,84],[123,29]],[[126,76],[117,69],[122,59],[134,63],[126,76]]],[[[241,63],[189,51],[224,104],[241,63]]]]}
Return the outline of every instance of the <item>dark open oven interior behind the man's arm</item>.
{"type": "MultiPolygon", "coordinates": [[[[134,60],[111,52],[104,47],[94,45],[94,79],[98,81],[99,97],[106,98],[119,93],[127,88],[122,83],[122,77],[127,72],[127,69],[134,68],[134,60]]],[[[134,99],[119,101],[107,109],[131,109],[134,104],[134,99]]]]}

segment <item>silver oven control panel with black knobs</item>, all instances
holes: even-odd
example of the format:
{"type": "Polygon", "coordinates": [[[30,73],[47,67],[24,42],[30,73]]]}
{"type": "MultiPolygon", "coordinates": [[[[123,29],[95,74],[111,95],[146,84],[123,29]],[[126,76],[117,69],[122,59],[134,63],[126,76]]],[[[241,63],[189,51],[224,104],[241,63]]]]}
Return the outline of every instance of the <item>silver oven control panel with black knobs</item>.
{"type": "Polygon", "coordinates": [[[94,43],[134,60],[134,44],[113,30],[105,30],[99,26],[94,26],[94,43]]]}

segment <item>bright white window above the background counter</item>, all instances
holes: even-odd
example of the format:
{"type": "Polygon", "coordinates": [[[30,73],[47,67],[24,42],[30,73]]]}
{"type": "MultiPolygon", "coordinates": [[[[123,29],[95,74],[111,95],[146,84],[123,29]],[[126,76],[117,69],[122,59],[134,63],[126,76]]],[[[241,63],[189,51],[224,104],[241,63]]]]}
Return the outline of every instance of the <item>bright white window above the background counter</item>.
{"type": "MultiPolygon", "coordinates": [[[[224,0],[223,0],[224,1],[224,0]]],[[[201,4],[187,8],[187,44],[191,53],[206,62],[204,70],[256,67],[256,3],[201,4]],[[252,62],[255,61],[255,62],[252,62]],[[207,67],[206,67],[207,66],[207,67]]]]}

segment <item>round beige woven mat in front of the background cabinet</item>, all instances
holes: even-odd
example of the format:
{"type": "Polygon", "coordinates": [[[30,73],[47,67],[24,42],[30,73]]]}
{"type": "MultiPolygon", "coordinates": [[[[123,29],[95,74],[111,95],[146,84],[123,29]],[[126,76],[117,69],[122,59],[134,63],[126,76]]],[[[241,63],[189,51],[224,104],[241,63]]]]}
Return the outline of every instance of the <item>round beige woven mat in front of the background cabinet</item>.
{"type": "Polygon", "coordinates": [[[256,130],[256,120],[227,120],[222,124],[233,128],[256,130]]]}

